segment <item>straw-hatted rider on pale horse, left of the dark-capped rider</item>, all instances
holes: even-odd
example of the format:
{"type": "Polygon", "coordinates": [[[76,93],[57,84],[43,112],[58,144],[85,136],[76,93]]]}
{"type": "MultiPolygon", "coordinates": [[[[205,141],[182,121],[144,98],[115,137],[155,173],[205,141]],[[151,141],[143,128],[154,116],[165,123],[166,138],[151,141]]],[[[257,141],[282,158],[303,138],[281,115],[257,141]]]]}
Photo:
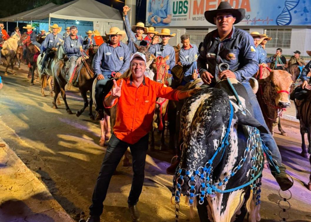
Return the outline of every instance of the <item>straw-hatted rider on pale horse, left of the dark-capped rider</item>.
{"type": "Polygon", "coordinates": [[[41,45],[41,56],[43,56],[43,53],[45,52],[45,55],[41,62],[41,75],[43,75],[45,70],[45,61],[50,58],[50,51],[53,48],[59,47],[59,45],[61,44],[61,40],[63,39],[63,37],[59,34],[62,30],[62,27],[58,26],[57,24],[51,25],[50,27],[52,29],[52,33],[48,34],[45,37],[41,45]]]}

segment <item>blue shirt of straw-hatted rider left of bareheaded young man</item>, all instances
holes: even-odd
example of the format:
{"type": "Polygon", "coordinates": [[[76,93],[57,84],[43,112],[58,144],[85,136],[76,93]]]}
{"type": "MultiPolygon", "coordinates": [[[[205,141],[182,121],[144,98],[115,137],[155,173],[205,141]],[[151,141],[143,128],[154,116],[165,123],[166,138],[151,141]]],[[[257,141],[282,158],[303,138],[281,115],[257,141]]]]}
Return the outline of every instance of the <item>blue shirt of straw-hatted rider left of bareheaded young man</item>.
{"type": "Polygon", "coordinates": [[[169,44],[166,44],[164,46],[163,51],[161,51],[162,44],[154,44],[151,45],[149,48],[149,52],[156,57],[162,56],[163,58],[167,55],[169,55],[169,59],[166,60],[166,64],[169,65],[169,69],[172,69],[175,66],[175,49],[173,46],[170,46],[169,44]]]}

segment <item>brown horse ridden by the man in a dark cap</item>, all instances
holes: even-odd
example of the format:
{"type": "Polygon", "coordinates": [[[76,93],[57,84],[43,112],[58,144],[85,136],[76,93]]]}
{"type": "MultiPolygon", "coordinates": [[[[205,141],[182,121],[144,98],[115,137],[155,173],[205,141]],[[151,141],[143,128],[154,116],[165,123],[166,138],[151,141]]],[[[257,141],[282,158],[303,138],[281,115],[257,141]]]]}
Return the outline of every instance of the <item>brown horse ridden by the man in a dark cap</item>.
{"type": "MultiPolygon", "coordinates": [[[[77,67],[76,72],[74,73],[73,80],[72,80],[72,86],[78,87],[81,93],[81,96],[84,100],[84,106],[82,109],[77,111],[76,115],[79,117],[86,107],[90,106],[89,109],[89,116],[91,119],[94,119],[93,113],[92,113],[92,105],[93,100],[90,98],[90,102],[87,99],[87,91],[92,92],[92,84],[95,79],[94,73],[91,71],[93,70],[92,67],[92,60],[94,58],[94,55],[97,51],[98,47],[93,47],[89,50],[89,58],[84,59],[84,56],[82,56],[82,62],[80,66],[77,67]],[[80,71],[80,72],[79,72],[80,71]]],[[[54,77],[54,99],[53,99],[53,108],[58,109],[56,105],[56,100],[58,97],[58,94],[61,93],[65,106],[66,111],[68,114],[72,114],[72,111],[70,110],[67,100],[66,100],[66,94],[65,94],[65,86],[67,84],[66,80],[66,72],[67,72],[67,65],[65,65],[64,59],[58,60],[55,65],[52,67],[53,77],[54,77]]]]}

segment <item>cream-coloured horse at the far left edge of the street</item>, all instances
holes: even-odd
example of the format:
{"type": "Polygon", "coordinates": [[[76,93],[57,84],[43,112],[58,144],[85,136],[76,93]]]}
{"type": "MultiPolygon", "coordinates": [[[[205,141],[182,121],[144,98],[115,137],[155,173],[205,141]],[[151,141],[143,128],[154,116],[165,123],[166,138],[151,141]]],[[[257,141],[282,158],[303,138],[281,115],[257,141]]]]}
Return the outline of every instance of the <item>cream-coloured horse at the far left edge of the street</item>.
{"type": "Polygon", "coordinates": [[[3,42],[1,52],[2,55],[6,58],[7,61],[7,67],[5,69],[4,75],[7,76],[7,69],[10,66],[11,62],[11,68],[12,68],[12,74],[15,74],[15,71],[13,69],[14,65],[14,58],[16,55],[16,50],[18,49],[18,41],[20,40],[20,35],[18,33],[12,35],[9,39],[3,42]]]}

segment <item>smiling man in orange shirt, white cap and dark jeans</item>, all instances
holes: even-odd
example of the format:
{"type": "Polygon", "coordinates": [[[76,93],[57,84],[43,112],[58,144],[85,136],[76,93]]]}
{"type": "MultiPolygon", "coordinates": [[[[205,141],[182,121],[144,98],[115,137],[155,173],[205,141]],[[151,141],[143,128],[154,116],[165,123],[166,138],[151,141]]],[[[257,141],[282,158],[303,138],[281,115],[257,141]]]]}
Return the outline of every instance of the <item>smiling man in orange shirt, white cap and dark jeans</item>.
{"type": "Polygon", "coordinates": [[[145,178],[148,132],[152,127],[156,98],[181,100],[199,90],[174,90],[145,77],[146,57],[142,53],[134,53],[130,61],[132,75],[118,81],[113,80],[114,87],[104,99],[106,108],[117,104],[116,123],[96,181],[87,222],[100,221],[110,179],[128,147],[132,153],[134,172],[128,207],[132,221],[140,220],[136,204],[145,178]]]}

